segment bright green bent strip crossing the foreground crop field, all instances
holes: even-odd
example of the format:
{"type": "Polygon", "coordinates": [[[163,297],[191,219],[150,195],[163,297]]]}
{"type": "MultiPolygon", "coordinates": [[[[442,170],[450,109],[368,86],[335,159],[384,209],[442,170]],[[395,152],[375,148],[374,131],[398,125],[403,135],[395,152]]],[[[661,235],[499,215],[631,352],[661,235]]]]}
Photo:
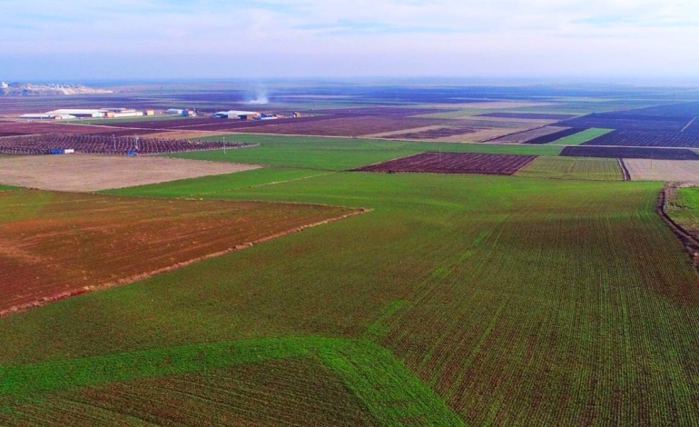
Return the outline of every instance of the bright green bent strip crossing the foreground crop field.
{"type": "Polygon", "coordinates": [[[458,415],[388,349],[369,340],[314,336],[200,343],[4,366],[0,367],[0,395],[49,392],[312,355],[320,357],[340,376],[381,425],[464,425],[458,415]]]}

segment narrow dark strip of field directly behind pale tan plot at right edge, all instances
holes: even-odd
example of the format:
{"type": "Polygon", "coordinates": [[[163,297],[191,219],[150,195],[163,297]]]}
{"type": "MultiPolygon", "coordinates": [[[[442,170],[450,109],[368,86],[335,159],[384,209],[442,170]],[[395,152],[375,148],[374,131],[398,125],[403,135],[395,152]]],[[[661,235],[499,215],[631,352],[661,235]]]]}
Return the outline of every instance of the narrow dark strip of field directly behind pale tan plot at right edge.
{"type": "Polygon", "coordinates": [[[682,148],[606,147],[594,145],[569,145],[560,155],[573,157],[614,157],[629,159],[699,160],[699,154],[682,148]]]}

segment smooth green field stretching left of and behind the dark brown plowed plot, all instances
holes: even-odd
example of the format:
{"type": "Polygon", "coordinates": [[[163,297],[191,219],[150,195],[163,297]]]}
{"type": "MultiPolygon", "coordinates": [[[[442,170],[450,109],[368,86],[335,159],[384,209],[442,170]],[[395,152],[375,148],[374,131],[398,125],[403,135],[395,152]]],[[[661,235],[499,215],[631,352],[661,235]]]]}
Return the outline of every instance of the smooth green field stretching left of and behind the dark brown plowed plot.
{"type": "MultiPolygon", "coordinates": [[[[222,141],[222,137],[206,138],[222,141]]],[[[341,171],[427,151],[558,155],[561,147],[523,144],[411,143],[355,138],[231,134],[226,141],[260,144],[239,150],[171,154],[172,157],[341,171]]]]}

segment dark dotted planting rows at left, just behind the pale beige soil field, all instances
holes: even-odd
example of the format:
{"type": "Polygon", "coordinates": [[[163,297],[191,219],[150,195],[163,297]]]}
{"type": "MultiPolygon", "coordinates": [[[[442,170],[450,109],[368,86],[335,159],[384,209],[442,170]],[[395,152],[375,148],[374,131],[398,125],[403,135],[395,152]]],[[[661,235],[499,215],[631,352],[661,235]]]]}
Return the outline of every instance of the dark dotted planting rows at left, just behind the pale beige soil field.
{"type": "Polygon", "coordinates": [[[240,148],[251,144],[188,141],[184,139],[138,138],[112,134],[41,134],[0,139],[0,153],[51,154],[72,149],[83,154],[162,154],[198,150],[240,148]]]}

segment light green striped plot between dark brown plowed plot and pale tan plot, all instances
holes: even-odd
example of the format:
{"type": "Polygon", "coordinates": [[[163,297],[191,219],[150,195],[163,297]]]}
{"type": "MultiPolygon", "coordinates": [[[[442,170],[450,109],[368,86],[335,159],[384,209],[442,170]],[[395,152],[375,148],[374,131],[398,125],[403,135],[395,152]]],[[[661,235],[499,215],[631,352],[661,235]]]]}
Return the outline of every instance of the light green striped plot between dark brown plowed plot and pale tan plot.
{"type": "Polygon", "coordinates": [[[517,171],[530,178],[620,181],[623,179],[616,159],[584,157],[537,157],[517,171]]]}

